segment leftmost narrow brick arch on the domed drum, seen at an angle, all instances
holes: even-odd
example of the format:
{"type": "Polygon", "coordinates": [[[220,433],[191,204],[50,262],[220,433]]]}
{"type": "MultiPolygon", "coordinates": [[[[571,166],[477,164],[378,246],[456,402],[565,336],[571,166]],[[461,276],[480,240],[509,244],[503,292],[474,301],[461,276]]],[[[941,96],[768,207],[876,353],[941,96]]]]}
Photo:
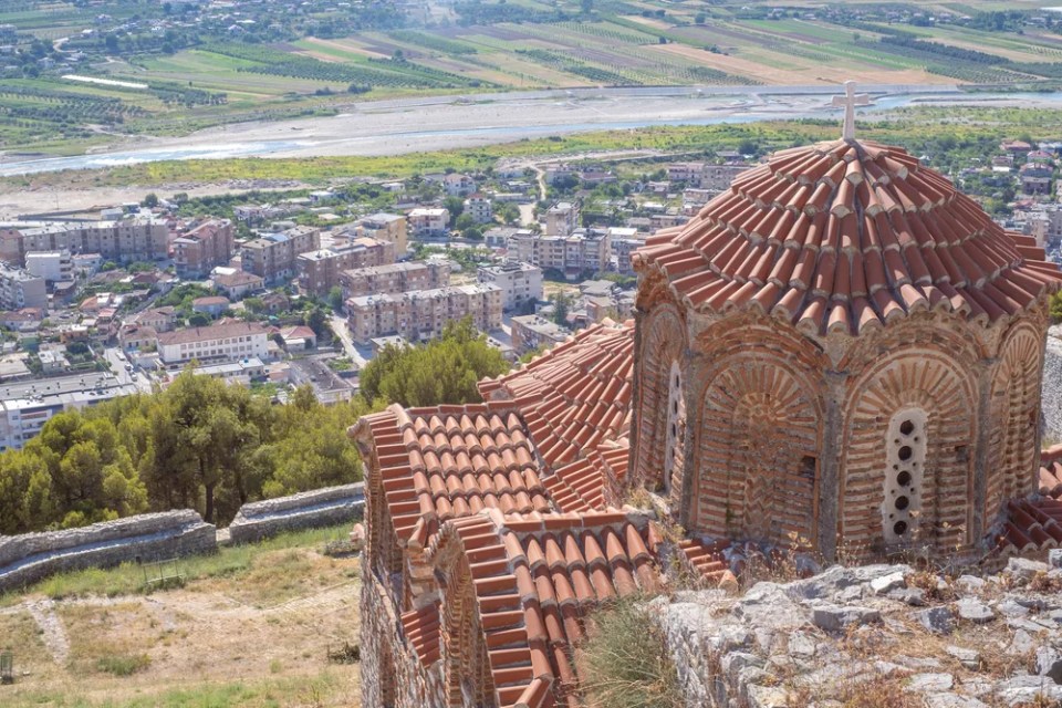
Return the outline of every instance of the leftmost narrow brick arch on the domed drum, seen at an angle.
{"type": "MultiPolygon", "coordinates": [[[[634,483],[659,483],[667,442],[668,382],[671,365],[685,365],[686,324],[673,302],[657,304],[639,324],[634,483]]],[[[681,478],[681,470],[674,472],[681,478]]]]}

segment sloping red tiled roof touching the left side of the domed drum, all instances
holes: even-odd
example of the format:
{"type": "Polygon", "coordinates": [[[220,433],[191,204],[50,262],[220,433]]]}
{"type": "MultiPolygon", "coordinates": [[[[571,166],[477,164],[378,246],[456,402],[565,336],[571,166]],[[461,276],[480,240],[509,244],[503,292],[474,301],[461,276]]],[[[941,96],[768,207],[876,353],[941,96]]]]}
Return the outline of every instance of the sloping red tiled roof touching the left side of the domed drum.
{"type": "Polygon", "coordinates": [[[479,389],[485,398],[512,402],[539,454],[556,468],[627,430],[633,376],[634,323],[605,322],[479,389]]]}

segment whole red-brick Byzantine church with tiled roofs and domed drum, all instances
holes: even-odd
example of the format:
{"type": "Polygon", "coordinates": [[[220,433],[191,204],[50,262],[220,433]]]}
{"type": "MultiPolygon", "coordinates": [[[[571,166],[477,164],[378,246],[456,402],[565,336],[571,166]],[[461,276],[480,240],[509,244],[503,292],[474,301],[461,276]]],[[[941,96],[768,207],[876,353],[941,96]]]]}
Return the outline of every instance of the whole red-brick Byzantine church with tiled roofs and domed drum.
{"type": "Polygon", "coordinates": [[[732,582],[731,544],[1062,542],[1062,502],[1035,496],[1062,489],[1038,475],[1062,275],[917,159],[781,152],[633,258],[634,323],[481,382],[486,403],[351,429],[365,706],[579,704],[585,616],[666,585],[663,554],[732,582]],[[624,506],[641,489],[685,539],[624,506]]]}

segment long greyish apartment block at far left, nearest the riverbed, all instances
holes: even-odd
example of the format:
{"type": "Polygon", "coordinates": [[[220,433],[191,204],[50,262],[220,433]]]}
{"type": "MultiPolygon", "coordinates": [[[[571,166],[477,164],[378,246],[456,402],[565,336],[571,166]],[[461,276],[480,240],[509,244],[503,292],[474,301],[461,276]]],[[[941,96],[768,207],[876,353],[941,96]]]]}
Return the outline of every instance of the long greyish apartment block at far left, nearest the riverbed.
{"type": "Polygon", "coordinates": [[[153,219],[123,219],[86,223],[49,223],[19,231],[15,244],[18,262],[25,263],[31,251],[100,253],[106,260],[128,263],[160,260],[168,256],[169,228],[153,219]]]}

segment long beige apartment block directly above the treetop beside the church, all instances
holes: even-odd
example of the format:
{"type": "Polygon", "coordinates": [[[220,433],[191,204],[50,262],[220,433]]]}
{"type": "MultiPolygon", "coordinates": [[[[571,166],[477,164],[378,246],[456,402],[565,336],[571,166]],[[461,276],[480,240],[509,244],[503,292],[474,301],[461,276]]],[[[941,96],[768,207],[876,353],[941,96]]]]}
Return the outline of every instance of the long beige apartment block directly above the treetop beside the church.
{"type": "Polygon", "coordinates": [[[385,335],[409,342],[442,334],[448,322],[471,316],[481,331],[501,326],[501,289],[492,284],[417,290],[400,295],[365,295],[347,300],[351,334],[358,343],[385,335]]]}

